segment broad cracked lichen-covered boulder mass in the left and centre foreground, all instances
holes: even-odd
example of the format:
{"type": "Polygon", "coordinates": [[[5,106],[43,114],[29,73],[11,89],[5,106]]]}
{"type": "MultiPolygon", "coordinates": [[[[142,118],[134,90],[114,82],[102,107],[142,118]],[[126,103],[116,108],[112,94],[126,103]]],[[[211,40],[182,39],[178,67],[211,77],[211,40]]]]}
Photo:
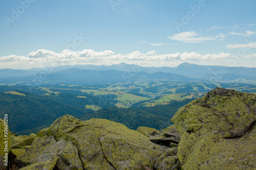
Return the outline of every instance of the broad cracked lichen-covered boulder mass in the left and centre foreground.
{"type": "Polygon", "coordinates": [[[65,115],[39,131],[14,164],[20,169],[153,169],[168,149],[110,120],[83,122],[65,115]]]}

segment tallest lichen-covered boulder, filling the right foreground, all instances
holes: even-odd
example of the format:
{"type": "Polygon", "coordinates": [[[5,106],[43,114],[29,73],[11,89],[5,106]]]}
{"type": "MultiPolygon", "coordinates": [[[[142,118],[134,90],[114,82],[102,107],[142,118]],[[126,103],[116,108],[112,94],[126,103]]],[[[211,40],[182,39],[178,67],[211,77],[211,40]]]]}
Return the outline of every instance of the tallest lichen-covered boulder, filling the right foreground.
{"type": "Polygon", "coordinates": [[[183,169],[256,169],[256,95],[216,88],[180,108],[183,169]]]}

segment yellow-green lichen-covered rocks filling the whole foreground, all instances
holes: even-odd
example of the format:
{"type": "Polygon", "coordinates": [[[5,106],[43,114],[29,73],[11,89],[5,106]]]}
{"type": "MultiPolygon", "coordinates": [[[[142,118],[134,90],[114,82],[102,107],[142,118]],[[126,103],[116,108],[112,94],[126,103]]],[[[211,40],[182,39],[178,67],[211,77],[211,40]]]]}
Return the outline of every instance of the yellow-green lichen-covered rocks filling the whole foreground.
{"type": "Polygon", "coordinates": [[[162,131],[147,127],[134,131],[110,120],[81,121],[65,115],[37,135],[11,135],[9,166],[256,169],[255,94],[216,88],[180,108],[172,121],[175,125],[162,131]]]}

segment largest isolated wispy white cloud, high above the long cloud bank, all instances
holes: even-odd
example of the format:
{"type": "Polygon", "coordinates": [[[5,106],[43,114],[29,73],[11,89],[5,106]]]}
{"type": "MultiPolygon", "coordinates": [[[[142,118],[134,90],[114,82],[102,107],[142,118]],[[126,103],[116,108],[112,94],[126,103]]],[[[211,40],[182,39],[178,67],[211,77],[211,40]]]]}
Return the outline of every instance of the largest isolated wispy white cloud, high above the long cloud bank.
{"type": "Polygon", "coordinates": [[[195,31],[188,31],[188,32],[182,32],[178,34],[174,34],[173,36],[169,36],[167,38],[171,40],[177,40],[184,43],[198,43],[198,42],[205,42],[209,40],[216,40],[215,37],[212,36],[198,36],[199,34],[195,31]]]}

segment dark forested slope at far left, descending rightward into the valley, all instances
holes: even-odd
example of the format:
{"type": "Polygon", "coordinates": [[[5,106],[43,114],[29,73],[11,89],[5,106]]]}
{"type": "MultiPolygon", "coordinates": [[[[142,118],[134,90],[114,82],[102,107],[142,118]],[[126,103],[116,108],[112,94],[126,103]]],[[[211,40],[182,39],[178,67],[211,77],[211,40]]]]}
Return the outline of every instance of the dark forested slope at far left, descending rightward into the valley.
{"type": "Polygon", "coordinates": [[[52,124],[62,115],[78,116],[82,109],[24,91],[0,92],[0,114],[8,113],[10,131],[19,132],[52,124]]]}

